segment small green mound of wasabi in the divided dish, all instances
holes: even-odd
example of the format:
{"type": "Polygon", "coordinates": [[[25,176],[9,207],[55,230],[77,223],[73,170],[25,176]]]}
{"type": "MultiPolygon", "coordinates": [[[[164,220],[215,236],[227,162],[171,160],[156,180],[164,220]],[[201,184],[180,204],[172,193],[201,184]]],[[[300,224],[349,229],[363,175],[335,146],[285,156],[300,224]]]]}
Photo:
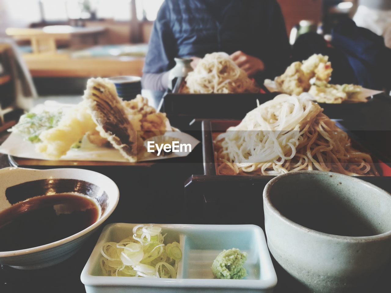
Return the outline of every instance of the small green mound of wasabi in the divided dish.
{"type": "Polygon", "coordinates": [[[212,264],[212,272],[216,279],[243,279],[247,276],[243,267],[247,253],[237,248],[223,250],[212,264]]]}

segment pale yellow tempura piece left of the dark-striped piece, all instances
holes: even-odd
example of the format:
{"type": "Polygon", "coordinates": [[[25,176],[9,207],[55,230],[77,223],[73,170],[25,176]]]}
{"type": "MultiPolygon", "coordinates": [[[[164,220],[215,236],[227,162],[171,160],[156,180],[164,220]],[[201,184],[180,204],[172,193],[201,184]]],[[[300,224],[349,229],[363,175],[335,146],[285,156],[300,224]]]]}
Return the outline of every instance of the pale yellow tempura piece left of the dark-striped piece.
{"type": "Polygon", "coordinates": [[[36,150],[50,159],[65,155],[86,132],[95,130],[96,124],[87,108],[87,104],[81,102],[61,118],[57,127],[42,132],[39,135],[42,142],[36,146],[36,150]]]}

